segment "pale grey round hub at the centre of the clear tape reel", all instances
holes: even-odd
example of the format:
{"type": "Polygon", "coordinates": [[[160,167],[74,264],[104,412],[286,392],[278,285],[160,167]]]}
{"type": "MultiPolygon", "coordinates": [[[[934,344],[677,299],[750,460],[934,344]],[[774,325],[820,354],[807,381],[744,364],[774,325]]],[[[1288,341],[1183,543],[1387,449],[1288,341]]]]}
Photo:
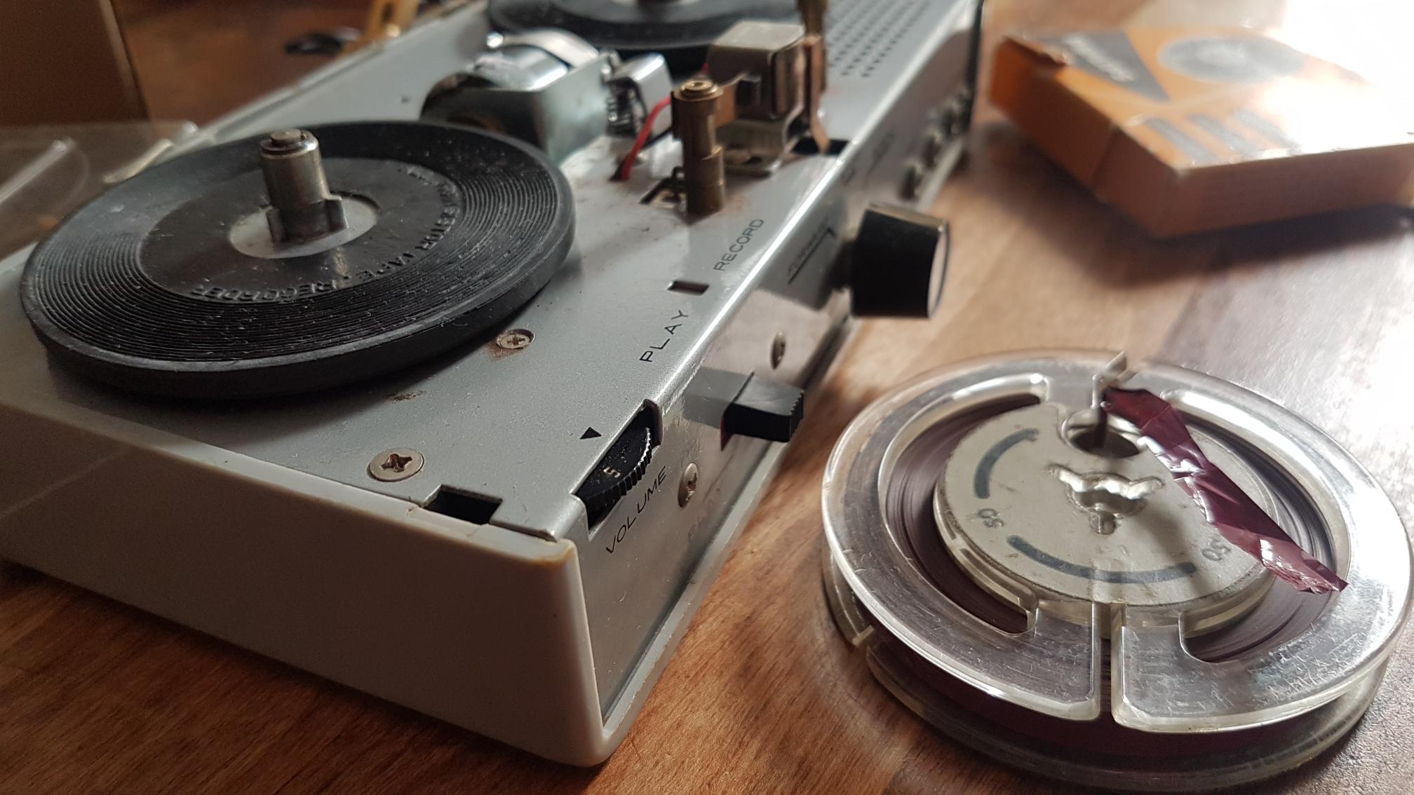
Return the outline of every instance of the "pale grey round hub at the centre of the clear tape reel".
{"type": "MultiPolygon", "coordinates": [[[[1068,412],[1007,412],[962,439],[935,489],[943,540],[978,586],[1021,610],[1102,625],[1113,608],[1154,610],[1191,631],[1223,627],[1260,600],[1270,576],[1229,545],[1150,454],[1089,453],[1068,412]]],[[[1133,440],[1131,440],[1133,443],[1133,440]]],[[[1203,448],[1274,511],[1256,474],[1212,437],[1203,448]]]]}

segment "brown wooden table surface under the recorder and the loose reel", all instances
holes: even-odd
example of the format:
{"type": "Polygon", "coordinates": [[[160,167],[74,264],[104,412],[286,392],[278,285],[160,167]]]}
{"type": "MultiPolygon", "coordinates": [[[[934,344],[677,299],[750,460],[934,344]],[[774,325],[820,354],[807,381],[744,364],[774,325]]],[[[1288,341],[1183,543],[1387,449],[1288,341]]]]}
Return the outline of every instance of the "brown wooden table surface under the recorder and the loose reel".
{"type": "MultiPolygon", "coordinates": [[[[988,40],[1174,6],[998,0],[988,40]]],[[[1258,4],[1236,6],[1251,21],[1258,4]]],[[[1281,20],[1311,3],[1275,6],[1281,20]]],[[[966,356],[1124,348],[1232,379],[1324,427],[1414,521],[1407,212],[1158,243],[991,112],[937,211],[954,229],[939,317],[863,327],[602,767],[537,760],[11,567],[0,577],[0,792],[1072,792],[926,729],[846,646],[822,593],[820,475],[834,440],[892,385],[966,356]]],[[[1348,743],[1247,791],[1414,791],[1410,714],[1404,644],[1348,743]]]]}

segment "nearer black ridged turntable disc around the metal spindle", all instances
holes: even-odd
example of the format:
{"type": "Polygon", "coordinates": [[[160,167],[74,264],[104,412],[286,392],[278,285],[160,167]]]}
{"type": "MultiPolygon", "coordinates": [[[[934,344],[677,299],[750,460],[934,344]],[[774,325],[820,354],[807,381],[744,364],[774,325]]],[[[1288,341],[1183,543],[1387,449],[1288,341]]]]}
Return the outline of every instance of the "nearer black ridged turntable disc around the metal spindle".
{"type": "Polygon", "coordinates": [[[329,188],[376,224],[264,259],[232,226],[266,202],[259,139],[156,166],[76,211],[25,266],[40,338],[89,376],[148,393],[304,392],[443,352],[506,320],[564,263],[570,187],[544,156],[424,123],[312,127],[329,188]]]}

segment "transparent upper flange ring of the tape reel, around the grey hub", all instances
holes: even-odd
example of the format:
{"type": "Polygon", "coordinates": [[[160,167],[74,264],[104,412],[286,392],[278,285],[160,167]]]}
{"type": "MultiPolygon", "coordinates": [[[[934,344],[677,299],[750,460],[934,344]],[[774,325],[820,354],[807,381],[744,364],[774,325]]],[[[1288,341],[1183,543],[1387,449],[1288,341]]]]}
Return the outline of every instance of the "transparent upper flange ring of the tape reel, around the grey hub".
{"type": "MultiPolygon", "coordinates": [[[[1140,365],[1126,386],[1148,389],[1186,417],[1240,440],[1288,477],[1319,515],[1335,569],[1349,581],[1298,637],[1247,656],[1206,662],[1182,642],[1169,611],[1126,608],[1106,646],[1097,614],[1075,605],[1031,610],[1028,628],[1004,632],[942,594],[885,521],[884,484],[923,430],[964,412],[1032,396],[1079,412],[1110,356],[1029,354],[960,365],[878,400],[846,430],[824,475],[829,555],[858,627],[877,622],[929,663],[1018,706],[1062,719],[1097,717],[1150,733],[1257,727],[1298,716],[1379,676],[1410,603],[1410,546],[1398,515],[1370,475],[1331,439],[1239,386],[1164,365],[1140,365]],[[1068,618],[1060,618],[1065,614],[1068,618]]],[[[1277,583],[1274,587],[1287,587],[1277,583]]],[[[833,591],[831,591],[833,593],[833,591]]],[[[833,593],[837,615],[839,593],[833,593]]]]}

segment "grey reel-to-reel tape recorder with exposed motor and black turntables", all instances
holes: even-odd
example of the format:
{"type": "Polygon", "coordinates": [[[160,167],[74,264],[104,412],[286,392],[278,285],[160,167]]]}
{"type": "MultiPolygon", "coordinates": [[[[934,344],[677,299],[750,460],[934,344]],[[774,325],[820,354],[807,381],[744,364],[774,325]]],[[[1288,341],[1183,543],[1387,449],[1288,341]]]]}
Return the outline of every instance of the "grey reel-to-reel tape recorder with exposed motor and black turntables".
{"type": "Polygon", "coordinates": [[[796,6],[474,3],[134,167],[0,263],[0,557],[605,758],[940,296],[978,4],[796,6]]]}

